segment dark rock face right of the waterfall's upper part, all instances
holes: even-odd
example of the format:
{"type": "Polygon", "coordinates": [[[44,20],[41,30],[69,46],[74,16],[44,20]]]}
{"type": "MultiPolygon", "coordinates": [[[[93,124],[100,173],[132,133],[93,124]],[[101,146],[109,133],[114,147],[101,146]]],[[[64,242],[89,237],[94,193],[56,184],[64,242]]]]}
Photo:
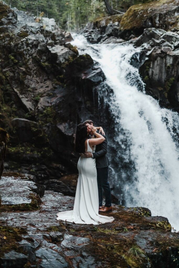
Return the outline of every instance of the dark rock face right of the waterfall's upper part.
{"type": "Polygon", "coordinates": [[[131,64],[139,68],[147,94],[161,106],[179,111],[179,35],[161,29],[145,29],[134,44],[141,52],[131,64]]]}

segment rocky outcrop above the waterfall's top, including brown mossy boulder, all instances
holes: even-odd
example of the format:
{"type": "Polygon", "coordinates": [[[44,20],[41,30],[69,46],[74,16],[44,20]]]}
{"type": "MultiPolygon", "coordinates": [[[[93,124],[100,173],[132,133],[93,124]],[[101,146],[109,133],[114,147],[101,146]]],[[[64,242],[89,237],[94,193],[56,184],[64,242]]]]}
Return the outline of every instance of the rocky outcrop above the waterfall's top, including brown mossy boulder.
{"type": "Polygon", "coordinates": [[[179,31],[178,0],[133,5],[125,14],[98,18],[82,30],[91,43],[121,43],[141,35],[146,28],[179,31]]]}

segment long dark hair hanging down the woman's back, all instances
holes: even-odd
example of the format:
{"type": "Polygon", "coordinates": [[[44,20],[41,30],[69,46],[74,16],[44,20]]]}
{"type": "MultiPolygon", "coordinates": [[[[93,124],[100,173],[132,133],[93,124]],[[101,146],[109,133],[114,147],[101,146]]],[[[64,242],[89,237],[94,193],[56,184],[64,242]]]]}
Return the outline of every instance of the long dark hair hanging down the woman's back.
{"type": "Polygon", "coordinates": [[[85,153],[85,140],[87,139],[87,126],[79,124],[76,128],[75,150],[79,153],[85,153]]]}

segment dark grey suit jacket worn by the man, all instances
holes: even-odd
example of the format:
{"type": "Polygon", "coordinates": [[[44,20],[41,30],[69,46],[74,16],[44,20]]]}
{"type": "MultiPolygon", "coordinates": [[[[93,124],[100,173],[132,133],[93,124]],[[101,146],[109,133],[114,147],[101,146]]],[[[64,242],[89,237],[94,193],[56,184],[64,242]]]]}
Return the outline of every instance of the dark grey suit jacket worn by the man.
{"type": "MultiPolygon", "coordinates": [[[[99,133],[99,131],[97,131],[99,133]]],[[[101,134],[101,133],[100,133],[101,134]]],[[[102,135],[102,134],[101,134],[102,135]]],[[[105,135],[105,141],[96,145],[96,150],[93,152],[93,158],[96,158],[96,168],[106,168],[110,165],[107,153],[107,139],[105,135]]]]}

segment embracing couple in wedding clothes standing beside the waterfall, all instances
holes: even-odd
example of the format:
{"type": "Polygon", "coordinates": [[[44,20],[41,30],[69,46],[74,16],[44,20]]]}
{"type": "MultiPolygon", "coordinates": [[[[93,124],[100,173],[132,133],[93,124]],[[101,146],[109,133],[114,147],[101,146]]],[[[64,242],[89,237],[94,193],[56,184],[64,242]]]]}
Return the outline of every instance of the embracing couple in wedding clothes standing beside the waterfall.
{"type": "Polygon", "coordinates": [[[107,139],[104,134],[103,129],[95,127],[91,120],[77,126],[75,148],[80,153],[80,158],[77,164],[79,176],[74,207],[73,210],[57,213],[57,220],[93,225],[114,221],[113,217],[99,214],[112,210],[107,139]],[[103,189],[105,206],[102,206],[103,189]]]}

